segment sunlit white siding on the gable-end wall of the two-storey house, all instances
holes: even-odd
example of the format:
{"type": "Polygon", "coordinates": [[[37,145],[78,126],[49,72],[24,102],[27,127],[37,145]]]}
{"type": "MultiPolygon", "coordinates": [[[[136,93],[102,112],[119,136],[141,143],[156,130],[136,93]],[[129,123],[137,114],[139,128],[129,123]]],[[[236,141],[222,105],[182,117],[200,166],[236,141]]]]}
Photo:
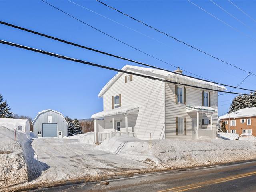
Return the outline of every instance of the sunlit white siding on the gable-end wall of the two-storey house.
{"type": "MultiPolygon", "coordinates": [[[[133,129],[142,140],[149,139],[150,133],[151,139],[164,139],[164,82],[132,76],[132,83],[125,84],[124,78],[125,75],[120,76],[104,94],[104,110],[111,110],[112,96],[121,94],[122,106],[139,106],[137,116],[128,115],[128,131],[133,129]]],[[[111,120],[112,117],[104,118],[105,131],[112,130],[111,120]]],[[[123,131],[124,115],[120,116],[120,120],[120,129],[123,131]]]]}

